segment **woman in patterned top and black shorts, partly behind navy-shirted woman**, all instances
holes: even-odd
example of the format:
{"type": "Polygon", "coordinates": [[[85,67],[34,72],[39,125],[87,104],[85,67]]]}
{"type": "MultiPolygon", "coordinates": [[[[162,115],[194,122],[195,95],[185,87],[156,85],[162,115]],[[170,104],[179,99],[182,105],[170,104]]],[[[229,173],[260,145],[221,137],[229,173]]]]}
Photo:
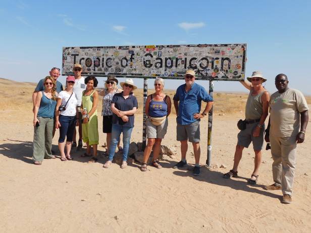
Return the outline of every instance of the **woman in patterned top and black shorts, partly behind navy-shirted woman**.
{"type": "MultiPolygon", "coordinates": [[[[115,78],[115,76],[107,77],[107,80],[105,81],[105,89],[102,90],[100,93],[102,95],[102,110],[101,110],[101,116],[102,116],[102,132],[107,133],[107,150],[105,152],[108,154],[109,148],[110,148],[110,141],[111,141],[111,131],[112,131],[112,116],[113,112],[111,110],[111,101],[112,98],[116,93],[122,92],[121,89],[118,89],[118,80],[115,78]]],[[[120,140],[118,141],[118,148],[121,151],[122,147],[120,146],[120,140]]]]}

